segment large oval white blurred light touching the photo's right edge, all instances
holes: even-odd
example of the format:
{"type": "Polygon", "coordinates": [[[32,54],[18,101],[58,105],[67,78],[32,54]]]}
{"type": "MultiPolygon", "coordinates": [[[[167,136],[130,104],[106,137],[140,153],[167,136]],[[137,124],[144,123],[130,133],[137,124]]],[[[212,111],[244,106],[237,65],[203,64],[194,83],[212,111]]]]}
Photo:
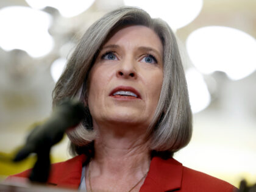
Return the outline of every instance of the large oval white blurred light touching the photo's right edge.
{"type": "Polygon", "coordinates": [[[201,73],[223,71],[238,80],[256,69],[256,40],[241,30],[202,27],[189,35],[186,44],[191,61],[201,73]]]}

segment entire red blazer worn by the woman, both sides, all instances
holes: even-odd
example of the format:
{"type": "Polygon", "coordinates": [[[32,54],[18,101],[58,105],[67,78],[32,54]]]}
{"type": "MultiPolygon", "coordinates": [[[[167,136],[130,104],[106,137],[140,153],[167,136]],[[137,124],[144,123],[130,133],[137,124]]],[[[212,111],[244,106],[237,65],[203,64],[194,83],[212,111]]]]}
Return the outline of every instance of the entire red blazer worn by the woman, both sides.
{"type": "MultiPolygon", "coordinates": [[[[82,165],[85,155],[79,155],[66,162],[55,163],[51,166],[48,179],[50,185],[57,187],[78,188],[82,173],[82,165]]],[[[28,177],[29,170],[9,176],[28,177]]],[[[169,158],[163,160],[160,157],[152,158],[148,176],[140,188],[140,192],[163,192],[163,191],[191,191],[191,192],[226,192],[235,191],[236,188],[229,183],[216,179],[199,171],[182,166],[181,163],[169,158]]]]}

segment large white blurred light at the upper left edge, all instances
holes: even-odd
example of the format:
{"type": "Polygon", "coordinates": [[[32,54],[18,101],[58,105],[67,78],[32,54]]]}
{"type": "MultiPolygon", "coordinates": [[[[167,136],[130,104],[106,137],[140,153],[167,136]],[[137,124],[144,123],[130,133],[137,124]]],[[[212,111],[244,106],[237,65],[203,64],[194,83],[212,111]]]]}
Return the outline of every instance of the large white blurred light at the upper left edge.
{"type": "Polygon", "coordinates": [[[29,7],[13,6],[0,10],[0,46],[5,51],[22,49],[32,57],[48,54],[54,40],[48,33],[52,17],[29,7]]]}

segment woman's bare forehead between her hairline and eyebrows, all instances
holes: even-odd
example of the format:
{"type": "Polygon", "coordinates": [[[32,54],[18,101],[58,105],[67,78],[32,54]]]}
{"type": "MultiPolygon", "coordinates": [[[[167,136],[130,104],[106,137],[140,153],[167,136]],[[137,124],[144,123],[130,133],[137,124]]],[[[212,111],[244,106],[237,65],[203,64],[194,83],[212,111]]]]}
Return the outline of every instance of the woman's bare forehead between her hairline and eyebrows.
{"type": "Polygon", "coordinates": [[[163,44],[154,30],[146,26],[130,25],[115,30],[104,44],[126,44],[129,46],[148,46],[163,53],[163,44]]]}

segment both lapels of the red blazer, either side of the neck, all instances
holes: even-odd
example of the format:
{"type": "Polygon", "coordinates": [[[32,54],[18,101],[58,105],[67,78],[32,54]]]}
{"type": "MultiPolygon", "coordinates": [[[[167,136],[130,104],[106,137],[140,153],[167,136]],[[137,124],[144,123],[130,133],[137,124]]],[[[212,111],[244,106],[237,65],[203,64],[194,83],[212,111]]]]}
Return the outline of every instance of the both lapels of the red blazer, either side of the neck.
{"type": "MultiPolygon", "coordinates": [[[[82,165],[86,159],[85,155],[78,155],[66,162],[55,163],[52,165],[48,184],[78,188],[82,165]]],[[[182,169],[182,163],[177,162],[174,158],[163,160],[160,157],[153,157],[148,176],[144,180],[140,192],[163,192],[179,189],[182,182],[182,169]]]]}

